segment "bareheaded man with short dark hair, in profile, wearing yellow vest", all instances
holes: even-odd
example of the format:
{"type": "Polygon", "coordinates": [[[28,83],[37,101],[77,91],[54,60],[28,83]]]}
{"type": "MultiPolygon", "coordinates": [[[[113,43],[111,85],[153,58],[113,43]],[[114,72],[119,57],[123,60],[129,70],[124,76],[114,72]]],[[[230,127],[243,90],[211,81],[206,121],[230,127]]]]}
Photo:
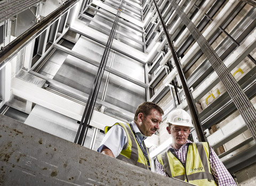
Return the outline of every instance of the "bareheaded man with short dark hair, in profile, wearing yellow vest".
{"type": "Polygon", "coordinates": [[[159,129],[163,114],[162,108],[153,102],[140,104],[131,123],[115,123],[113,126],[106,126],[106,135],[98,151],[151,170],[144,140],[159,129]]]}

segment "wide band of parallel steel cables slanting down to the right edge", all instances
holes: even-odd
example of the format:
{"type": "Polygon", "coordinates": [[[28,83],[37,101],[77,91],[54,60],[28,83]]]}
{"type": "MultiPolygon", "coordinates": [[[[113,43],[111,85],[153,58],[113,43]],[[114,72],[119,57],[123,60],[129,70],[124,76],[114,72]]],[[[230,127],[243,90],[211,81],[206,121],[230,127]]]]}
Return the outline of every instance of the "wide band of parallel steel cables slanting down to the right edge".
{"type": "Polygon", "coordinates": [[[256,141],[256,109],[253,107],[249,98],[245,95],[239,84],[236,82],[233,75],[229,72],[227,66],[221,61],[218,54],[214,51],[211,45],[204,38],[202,33],[196,28],[195,24],[188,18],[181,7],[173,0],[169,0],[171,5],[174,7],[177,14],[180,16],[183,23],[186,25],[191,35],[197,41],[201,47],[203,53],[208,58],[213,69],[218,74],[220,80],[223,82],[225,88],[237,110],[243,117],[245,124],[250,130],[253,139],[256,141]]]}

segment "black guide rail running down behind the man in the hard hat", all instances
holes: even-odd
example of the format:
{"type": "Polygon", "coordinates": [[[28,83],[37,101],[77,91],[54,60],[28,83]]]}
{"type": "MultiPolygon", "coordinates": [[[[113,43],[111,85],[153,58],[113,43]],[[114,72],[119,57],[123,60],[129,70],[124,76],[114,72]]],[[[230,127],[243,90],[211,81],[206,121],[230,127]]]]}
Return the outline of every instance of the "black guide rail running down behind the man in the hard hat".
{"type": "MultiPolygon", "coordinates": [[[[169,36],[169,32],[167,31],[167,28],[166,28],[166,25],[165,25],[164,20],[162,18],[162,15],[161,15],[158,7],[157,7],[156,0],[153,0],[153,1],[154,1],[156,10],[157,10],[159,19],[161,20],[161,23],[162,23],[162,26],[163,26],[163,30],[164,30],[166,39],[168,41],[168,45],[169,45],[169,47],[171,49],[172,56],[173,56],[173,59],[174,59],[177,71],[179,73],[181,84],[182,84],[182,87],[183,87],[183,90],[185,92],[185,96],[186,96],[186,99],[187,99],[188,107],[189,107],[189,110],[190,110],[193,122],[195,124],[197,138],[198,138],[199,141],[205,142],[206,138],[204,136],[204,131],[203,131],[203,128],[202,128],[202,125],[201,125],[201,121],[200,121],[199,116],[198,116],[198,112],[197,112],[197,109],[196,109],[196,105],[194,103],[193,96],[191,95],[191,92],[189,90],[189,87],[188,87],[185,75],[184,75],[184,73],[182,71],[182,67],[181,67],[180,61],[179,61],[178,56],[177,56],[177,54],[176,54],[176,52],[174,50],[174,46],[172,44],[171,37],[169,36]]],[[[170,71],[171,70],[172,69],[170,69],[170,71]]]]}

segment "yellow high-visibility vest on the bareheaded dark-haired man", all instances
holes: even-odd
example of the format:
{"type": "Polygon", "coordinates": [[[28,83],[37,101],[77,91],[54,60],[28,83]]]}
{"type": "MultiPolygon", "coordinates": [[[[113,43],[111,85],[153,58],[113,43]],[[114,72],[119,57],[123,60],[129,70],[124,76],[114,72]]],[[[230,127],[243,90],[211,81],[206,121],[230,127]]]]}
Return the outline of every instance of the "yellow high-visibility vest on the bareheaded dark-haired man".
{"type": "MultiPolygon", "coordinates": [[[[126,137],[127,137],[127,145],[125,147],[123,147],[123,150],[116,158],[121,159],[124,162],[148,169],[147,168],[148,167],[147,159],[143,155],[140,145],[138,144],[138,142],[131,130],[130,125],[128,123],[126,123],[126,124],[115,123],[114,125],[122,126],[122,128],[125,130],[126,137]]],[[[105,134],[110,130],[111,127],[112,126],[105,127],[105,134]]],[[[147,154],[149,154],[148,149],[146,149],[146,150],[147,150],[147,154]]],[[[149,162],[150,162],[150,159],[149,159],[149,162]]]]}

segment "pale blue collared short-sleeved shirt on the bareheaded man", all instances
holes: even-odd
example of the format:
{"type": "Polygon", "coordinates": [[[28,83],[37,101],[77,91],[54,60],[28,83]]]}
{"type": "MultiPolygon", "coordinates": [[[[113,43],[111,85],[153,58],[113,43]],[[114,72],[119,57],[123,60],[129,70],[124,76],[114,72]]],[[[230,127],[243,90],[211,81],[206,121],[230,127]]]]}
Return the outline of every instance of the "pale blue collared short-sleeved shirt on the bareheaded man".
{"type": "MultiPolygon", "coordinates": [[[[132,121],[131,124],[134,132],[139,137],[139,140],[140,140],[139,142],[141,143],[147,137],[140,132],[137,124],[134,121],[132,121]]],[[[103,146],[106,146],[112,151],[113,155],[117,157],[123,150],[123,147],[125,147],[126,145],[127,145],[127,136],[126,136],[125,130],[120,125],[114,125],[105,134],[105,137],[101,141],[97,151],[101,152],[103,146]]]]}

